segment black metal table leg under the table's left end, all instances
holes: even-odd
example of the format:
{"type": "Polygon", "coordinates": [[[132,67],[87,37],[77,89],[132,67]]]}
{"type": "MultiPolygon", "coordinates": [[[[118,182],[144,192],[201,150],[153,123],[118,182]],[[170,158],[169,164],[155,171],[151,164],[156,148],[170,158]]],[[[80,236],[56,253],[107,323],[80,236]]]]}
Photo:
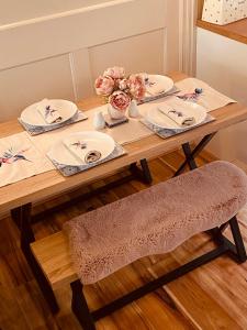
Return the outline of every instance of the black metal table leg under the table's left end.
{"type": "Polygon", "coordinates": [[[21,230],[21,249],[25,255],[26,262],[29,263],[35,279],[50,307],[53,314],[56,314],[59,310],[59,307],[56,301],[54,292],[46,279],[44,273],[42,272],[38,263],[36,262],[30,244],[35,241],[35,237],[31,227],[31,211],[32,204],[26,204],[15,210],[16,222],[20,223],[21,230]]]}

